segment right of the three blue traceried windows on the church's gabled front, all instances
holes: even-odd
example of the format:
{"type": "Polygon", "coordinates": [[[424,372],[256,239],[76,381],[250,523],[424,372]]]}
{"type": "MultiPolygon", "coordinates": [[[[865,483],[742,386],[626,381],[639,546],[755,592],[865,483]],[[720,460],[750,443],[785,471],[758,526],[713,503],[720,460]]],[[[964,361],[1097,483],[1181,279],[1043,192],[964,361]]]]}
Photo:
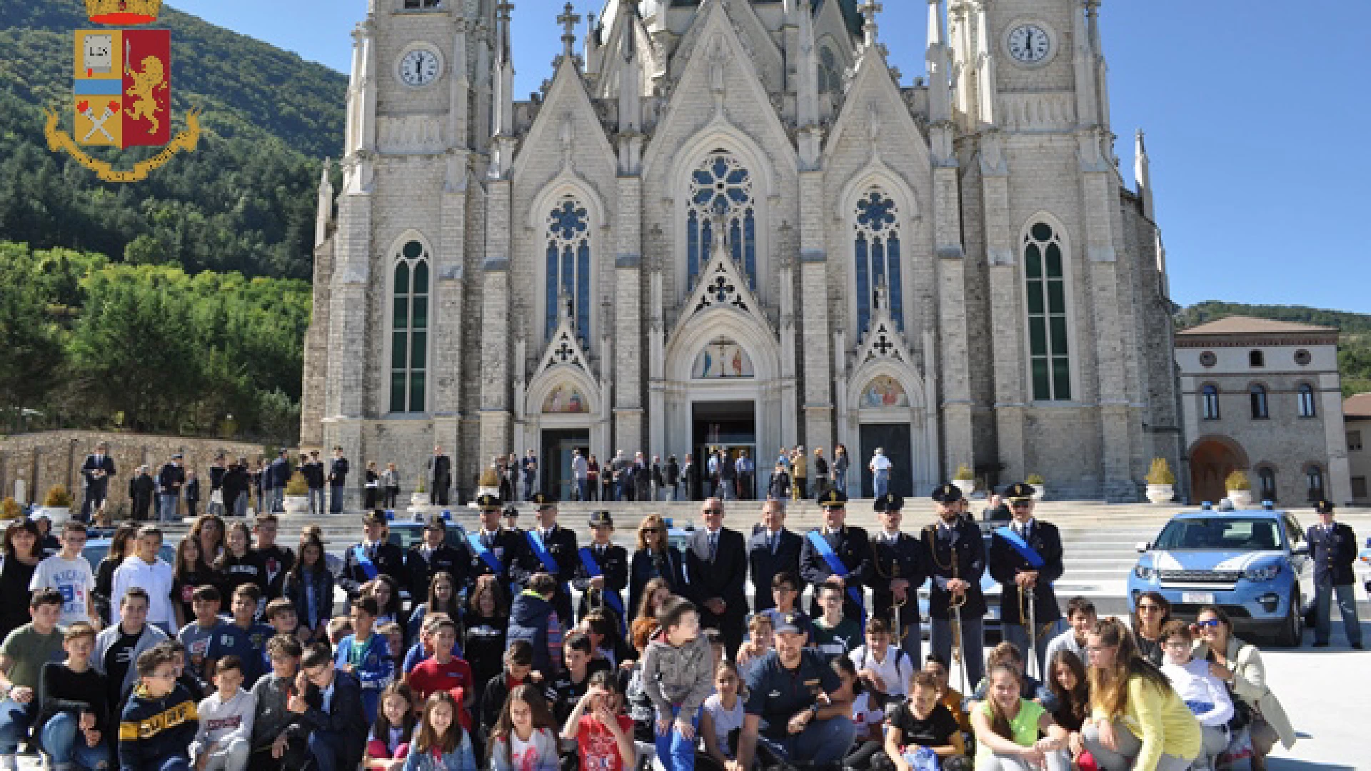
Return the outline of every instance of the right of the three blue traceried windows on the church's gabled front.
{"type": "Polygon", "coordinates": [[[871,188],[857,200],[853,213],[853,259],[857,277],[857,328],[871,325],[872,298],[886,287],[890,318],[905,328],[905,300],[899,265],[899,211],[880,188],[871,188]]]}

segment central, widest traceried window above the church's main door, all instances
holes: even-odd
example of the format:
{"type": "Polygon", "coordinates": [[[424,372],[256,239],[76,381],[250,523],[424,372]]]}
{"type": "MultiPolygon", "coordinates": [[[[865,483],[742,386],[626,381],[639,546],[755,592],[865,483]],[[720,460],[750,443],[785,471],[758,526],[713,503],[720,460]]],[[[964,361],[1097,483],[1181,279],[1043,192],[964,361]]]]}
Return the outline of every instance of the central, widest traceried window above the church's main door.
{"type": "Polygon", "coordinates": [[[710,152],[691,174],[690,206],[686,211],[686,270],[687,285],[695,287],[699,272],[723,243],[714,232],[716,218],[723,214],[728,228],[728,243],[739,270],[747,276],[750,288],[757,287],[757,204],[753,198],[753,176],[725,150],[710,152]]]}

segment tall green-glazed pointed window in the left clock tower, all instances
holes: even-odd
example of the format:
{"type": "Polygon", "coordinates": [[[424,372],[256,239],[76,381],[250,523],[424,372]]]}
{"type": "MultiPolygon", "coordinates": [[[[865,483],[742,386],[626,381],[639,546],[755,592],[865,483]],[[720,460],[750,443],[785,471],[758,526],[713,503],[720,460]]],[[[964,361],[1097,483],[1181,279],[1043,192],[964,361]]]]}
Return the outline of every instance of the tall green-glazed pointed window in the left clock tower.
{"type": "Polygon", "coordinates": [[[391,412],[421,413],[428,387],[429,255],[406,243],[395,255],[391,296],[391,412]]]}

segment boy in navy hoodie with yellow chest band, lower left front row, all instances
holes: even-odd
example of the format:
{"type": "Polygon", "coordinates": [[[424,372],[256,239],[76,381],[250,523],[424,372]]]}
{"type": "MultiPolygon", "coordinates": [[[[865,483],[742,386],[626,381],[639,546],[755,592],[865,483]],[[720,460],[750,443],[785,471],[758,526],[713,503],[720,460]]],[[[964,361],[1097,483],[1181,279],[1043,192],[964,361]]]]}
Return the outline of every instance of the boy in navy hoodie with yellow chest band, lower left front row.
{"type": "Polygon", "coordinates": [[[189,771],[200,720],[175,682],[175,657],[154,646],[138,656],[137,668],[138,685],[119,719],[121,771],[189,771]]]}

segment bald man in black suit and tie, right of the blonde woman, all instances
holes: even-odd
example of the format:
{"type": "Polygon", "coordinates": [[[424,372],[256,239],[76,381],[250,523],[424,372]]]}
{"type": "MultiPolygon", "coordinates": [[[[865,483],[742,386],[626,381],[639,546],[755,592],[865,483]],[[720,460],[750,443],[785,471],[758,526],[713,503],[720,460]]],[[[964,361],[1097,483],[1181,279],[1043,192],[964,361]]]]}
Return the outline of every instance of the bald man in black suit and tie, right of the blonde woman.
{"type": "Polygon", "coordinates": [[[718,498],[706,498],[699,513],[705,527],[686,547],[688,598],[699,606],[701,626],[724,635],[732,660],[743,643],[747,619],[747,542],[743,534],[724,527],[724,502],[718,498]]]}

